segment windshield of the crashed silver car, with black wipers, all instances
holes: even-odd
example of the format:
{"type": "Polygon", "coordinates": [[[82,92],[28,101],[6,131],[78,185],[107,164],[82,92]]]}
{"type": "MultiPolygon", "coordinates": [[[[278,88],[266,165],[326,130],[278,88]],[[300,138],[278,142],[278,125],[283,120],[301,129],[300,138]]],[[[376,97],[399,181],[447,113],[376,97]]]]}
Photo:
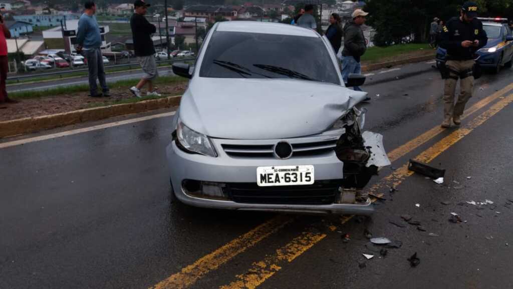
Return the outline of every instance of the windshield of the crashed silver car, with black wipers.
{"type": "Polygon", "coordinates": [[[203,57],[201,77],[297,78],[340,85],[321,38],[218,31],[203,57]]]}

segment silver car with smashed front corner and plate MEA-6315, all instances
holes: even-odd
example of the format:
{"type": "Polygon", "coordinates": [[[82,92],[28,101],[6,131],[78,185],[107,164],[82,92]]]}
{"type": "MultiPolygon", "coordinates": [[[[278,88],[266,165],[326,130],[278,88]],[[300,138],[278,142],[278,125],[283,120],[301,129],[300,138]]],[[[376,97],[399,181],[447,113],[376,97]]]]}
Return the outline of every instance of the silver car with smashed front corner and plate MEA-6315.
{"type": "MultiPolygon", "coordinates": [[[[213,26],[167,147],[173,198],[239,210],[363,214],[363,188],[389,165],[382,137],[361,132],[365,92],[345,88],[336,54],[296,26],[231,21],[213,26]]],[[[350,75],[348,86],[361,85],[350,75]]]]}

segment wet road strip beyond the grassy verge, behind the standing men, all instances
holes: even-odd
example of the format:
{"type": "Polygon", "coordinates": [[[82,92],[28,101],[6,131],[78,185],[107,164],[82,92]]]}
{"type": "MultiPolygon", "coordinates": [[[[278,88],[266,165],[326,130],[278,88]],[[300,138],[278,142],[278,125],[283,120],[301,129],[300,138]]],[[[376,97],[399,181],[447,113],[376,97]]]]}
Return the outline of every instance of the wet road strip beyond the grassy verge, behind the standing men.
{"type": "MultiPolygon", "coordinates": [[[[133,65],[135,69],[137,64],[133,65]]],[[[131,71],[121,71],[121,72],[112,72],[106,75],[107,83],[116,82],[120,80],[127,79],[140,79],[144,75],[144,72],[140,69],[131,70],[131,71]]],[[[159,68],[159,75],[161,76],[172,76],[174,75],[171,67],[161,67],[159,68]]],[[[64,75],[65,76],[65,75],[64,75]]],[[[45,82],[36,82],[36,83],[20,83],[20,84],[10,84],[7,86],[7,92],[17,92],[17,91],[27,91],[27,90],[47,90],[55,87],[65,87],[65,86],[73,86],[73,85],[81,85],[88,84],[89,79],[87,76],[79,77],[79,78],[70,78],[64,80],[55,80],[55,81],[45,81],[45,82]]]]}

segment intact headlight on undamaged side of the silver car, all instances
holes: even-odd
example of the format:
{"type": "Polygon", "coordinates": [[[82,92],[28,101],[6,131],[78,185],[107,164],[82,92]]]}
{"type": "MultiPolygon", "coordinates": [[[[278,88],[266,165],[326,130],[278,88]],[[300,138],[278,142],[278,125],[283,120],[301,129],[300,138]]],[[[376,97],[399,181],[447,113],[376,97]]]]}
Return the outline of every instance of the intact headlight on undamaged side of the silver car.
{"type": "Polygon", "coordinates": [[[205,134],[188,128],[180,120],[176,126],[176,140],[185,150],[190,152],[196,152],[200,153],[200,155],[214,158],[218,156],[212,143],[205,134]]]}

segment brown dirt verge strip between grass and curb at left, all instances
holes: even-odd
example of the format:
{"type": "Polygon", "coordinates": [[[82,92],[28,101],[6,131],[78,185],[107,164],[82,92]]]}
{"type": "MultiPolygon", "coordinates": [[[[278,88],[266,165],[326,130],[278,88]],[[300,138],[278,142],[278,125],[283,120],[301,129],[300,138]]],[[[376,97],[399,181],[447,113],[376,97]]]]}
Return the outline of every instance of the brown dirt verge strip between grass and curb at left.
{"type": "MultiPolygon", "coordinates": [[[[173,83],[172,85],[155,86],[163,97],[180,95],[187,88],[187,83],[173,83]]],[[[146,90],[143,89],[143,95],[146,90]]],[[[124,103],[134,99],[134,95],[128,88],[113,88],[110,90],[111,97],[91,98],[89,92],[76,92],[73,94],[59,94],[50,97],[22,99],[15,104],[0,105],[0,121],[9,121],[27,117],[38,117],[41,115],[68,112],[78,109],[105,106],[116,103],[124,103]],[[5,108],[4,108],[5,107],[5,108]]],[[[142,98],[141,100],[145,100],[142,98]]]]}

